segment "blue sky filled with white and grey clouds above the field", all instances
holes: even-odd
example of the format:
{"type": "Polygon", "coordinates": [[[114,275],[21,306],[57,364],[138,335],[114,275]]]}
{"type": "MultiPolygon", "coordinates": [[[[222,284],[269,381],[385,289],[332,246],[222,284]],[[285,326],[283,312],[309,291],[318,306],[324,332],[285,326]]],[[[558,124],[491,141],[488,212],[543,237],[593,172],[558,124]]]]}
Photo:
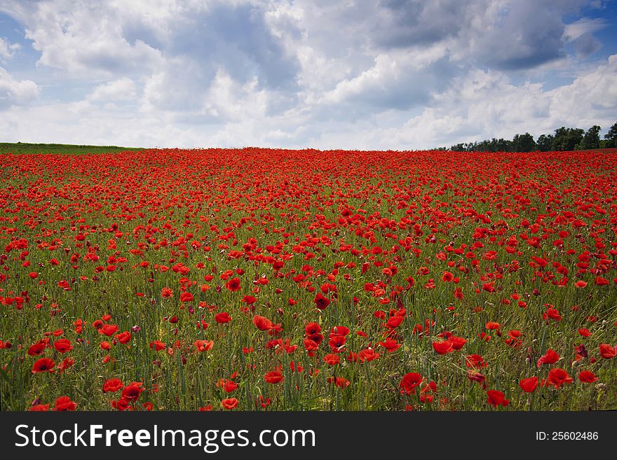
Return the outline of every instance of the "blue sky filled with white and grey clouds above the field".
{"type": "Polygon", "coordinates": [[[616,0],[0,0],[0,141],[414,149],[616,121],[616,0]]]}

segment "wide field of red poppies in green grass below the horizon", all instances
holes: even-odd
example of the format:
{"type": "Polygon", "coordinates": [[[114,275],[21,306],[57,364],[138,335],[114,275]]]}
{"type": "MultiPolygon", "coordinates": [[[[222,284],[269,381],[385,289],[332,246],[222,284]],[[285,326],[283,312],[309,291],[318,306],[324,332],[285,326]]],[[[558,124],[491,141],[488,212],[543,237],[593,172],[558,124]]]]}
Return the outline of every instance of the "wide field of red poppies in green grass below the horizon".
{"type": "Polygon", "coordinates": [[[2,410],[617,409],[617,155],[0,153],[2,410]]]}

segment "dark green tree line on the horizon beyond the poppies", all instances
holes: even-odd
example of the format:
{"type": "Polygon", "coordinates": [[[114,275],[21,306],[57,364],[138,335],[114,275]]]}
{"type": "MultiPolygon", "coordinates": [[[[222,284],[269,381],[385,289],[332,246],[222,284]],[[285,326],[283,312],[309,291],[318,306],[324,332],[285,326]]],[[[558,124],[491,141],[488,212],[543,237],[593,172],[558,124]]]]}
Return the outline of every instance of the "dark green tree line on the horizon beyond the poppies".
{"type": "Polygon", "coordinates": [[[478,142],[461,142],[450,148],[455,152],[532,152],[571,151],[594,148],[617,148],[617,123],[600,139],[601,127],[593,125],[587,131],[581,128],[560,127],[555,134],[541,134],[538,139],[526,132],[516,134],[512,140],[490,139],[478,142]]]}

